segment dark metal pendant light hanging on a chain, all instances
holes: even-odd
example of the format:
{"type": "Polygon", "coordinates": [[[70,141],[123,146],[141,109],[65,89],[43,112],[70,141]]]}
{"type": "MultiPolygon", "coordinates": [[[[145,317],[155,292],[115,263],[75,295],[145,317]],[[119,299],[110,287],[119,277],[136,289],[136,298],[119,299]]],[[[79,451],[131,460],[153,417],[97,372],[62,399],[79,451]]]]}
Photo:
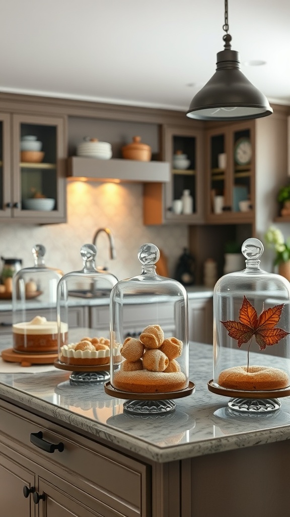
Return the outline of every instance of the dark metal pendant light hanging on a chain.
{"type": "Polygon", "coordinates": [[[213,77],[192,99],[186,115],[199,120],[246,120],[273,113],[264,94],[240,71],[239,53],[231,50],[228,0],[224,2],[224,50],[217,53],[213,77]]]}

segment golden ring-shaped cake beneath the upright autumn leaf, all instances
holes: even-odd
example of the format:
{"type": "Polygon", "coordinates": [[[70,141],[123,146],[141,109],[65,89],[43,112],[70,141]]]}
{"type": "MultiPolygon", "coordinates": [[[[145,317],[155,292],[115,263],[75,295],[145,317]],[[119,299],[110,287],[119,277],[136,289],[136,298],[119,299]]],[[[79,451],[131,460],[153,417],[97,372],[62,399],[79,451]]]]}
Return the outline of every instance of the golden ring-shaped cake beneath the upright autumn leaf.
{"type": "Polygon", "coordinates": [[[287,388],[290,379],[280,368],[266,366],[235,366],[220,372],[218,384],[239,391],[264,391],[287,388]]]}

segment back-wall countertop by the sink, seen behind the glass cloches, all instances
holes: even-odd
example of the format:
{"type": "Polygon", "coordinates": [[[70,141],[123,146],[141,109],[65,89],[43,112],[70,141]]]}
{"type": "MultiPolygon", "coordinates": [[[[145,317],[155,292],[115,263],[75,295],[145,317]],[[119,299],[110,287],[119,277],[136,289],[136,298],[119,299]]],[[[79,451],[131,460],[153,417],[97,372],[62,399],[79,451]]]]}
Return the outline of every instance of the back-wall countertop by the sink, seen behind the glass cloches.
{"type": "MultiPolygon", "coordinates": [[[[186,288],[188,293],[188,299],[198,299],[198,298],[212,298],[214,293],[213,287],[205,287],[204,285],[192,285],[186,288]]],[[[140,303],[143,303],[143,300],[140,299],[140,303]]],[[[136,303],[138,303],[138,299],[136,297],[136,303]]],[[[109,297],[104,296],[100,298],[80,298],[80,297],[71,297],[70,305],[76,307],[83,306],[97,306],[97,305],[109,305],[109,297]]],[[[28,309],[37,309],[44,308],[41,302],[38,299],[28,300],[27,306],[28,309]]],[[[12,310],[12,300],[0,300],[0,311],[11,311],[12,310]]]]}

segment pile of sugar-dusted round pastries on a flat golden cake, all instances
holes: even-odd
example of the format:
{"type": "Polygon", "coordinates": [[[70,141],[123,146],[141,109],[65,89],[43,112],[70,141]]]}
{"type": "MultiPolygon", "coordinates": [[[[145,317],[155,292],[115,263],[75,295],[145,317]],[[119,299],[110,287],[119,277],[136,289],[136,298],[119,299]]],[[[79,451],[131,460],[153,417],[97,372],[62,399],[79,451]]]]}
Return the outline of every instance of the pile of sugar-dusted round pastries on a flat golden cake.
{"type": "Polygon", "coordinates": [[[182,355],[183,342],[164,339],[159,325],[149,325],[139,339],[126,338],[121,347],[124,361],[114,374],[116,389],[131,393],[167,393],[187,388],[188,381],[176,358],[182,355]]]}

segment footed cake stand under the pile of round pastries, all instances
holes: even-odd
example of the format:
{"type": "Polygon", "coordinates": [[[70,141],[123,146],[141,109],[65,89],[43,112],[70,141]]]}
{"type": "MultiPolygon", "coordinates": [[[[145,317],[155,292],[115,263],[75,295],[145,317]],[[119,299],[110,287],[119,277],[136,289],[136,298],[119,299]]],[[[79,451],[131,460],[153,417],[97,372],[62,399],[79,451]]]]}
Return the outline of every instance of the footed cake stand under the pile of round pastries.
{"type": "Polygon", "coordinates": [[[175,402],[172,399],[188,397],[195,391],[195,384],[189,381],[188,387],[168,393],[130,393],[115,389],[110,382],[104,384],[105,392],[111,397],[126,399],[123,410],[130,415],[164,415],[173,413],[175,402]]]}

